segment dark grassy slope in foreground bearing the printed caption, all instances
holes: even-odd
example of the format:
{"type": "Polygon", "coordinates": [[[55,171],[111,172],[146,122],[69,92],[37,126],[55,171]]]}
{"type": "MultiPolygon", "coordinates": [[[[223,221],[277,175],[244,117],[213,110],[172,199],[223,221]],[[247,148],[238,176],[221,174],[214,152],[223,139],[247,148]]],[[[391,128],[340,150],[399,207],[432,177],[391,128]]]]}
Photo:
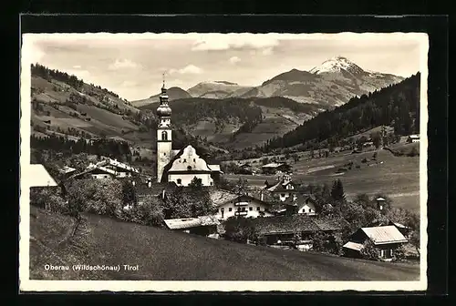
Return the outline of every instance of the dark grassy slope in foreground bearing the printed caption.
{"type": "Polygon", "coordinates": [[[33,280],[418,280],[420,275],[418,265],[255,247],[95,215],[86,216],[84,240],[78,231],[75,246],[65,241],[74,226],[71,219],[31,211],[33,280]],[[47,271],[45,264],[70,270],[47,271]],[[139,270],[75,272],[73,264],[138,264],[139,270]]]}

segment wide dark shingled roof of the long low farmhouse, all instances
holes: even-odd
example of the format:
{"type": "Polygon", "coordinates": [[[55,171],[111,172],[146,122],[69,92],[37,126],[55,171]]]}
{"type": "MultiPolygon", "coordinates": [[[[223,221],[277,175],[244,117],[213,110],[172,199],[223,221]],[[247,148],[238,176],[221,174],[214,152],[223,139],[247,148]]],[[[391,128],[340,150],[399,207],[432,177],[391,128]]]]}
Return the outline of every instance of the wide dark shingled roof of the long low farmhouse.
{"type": "MultiPolygon", "coordinates": [[[[341,230],[345,220],[316,218],[306,215],[252,219],[260,235],[341,230]]],[[[345,221],[346,222],[346,221],[345,221]]]]}

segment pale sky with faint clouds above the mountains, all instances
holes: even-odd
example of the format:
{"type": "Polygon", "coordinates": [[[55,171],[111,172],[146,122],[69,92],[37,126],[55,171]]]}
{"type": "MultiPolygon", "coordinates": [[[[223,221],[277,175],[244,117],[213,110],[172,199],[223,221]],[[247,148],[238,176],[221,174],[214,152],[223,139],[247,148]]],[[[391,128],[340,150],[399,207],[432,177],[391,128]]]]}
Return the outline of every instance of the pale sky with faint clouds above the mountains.
{"type": "Polygon", "coordinates": [[[420,71],[420,41],[409,34],[36,34],[24,36],[23,56],[131,101],[158,94],[163,74],[167,87],[203,81],[259,86],[333,56],[408,77],[420,71]]]}

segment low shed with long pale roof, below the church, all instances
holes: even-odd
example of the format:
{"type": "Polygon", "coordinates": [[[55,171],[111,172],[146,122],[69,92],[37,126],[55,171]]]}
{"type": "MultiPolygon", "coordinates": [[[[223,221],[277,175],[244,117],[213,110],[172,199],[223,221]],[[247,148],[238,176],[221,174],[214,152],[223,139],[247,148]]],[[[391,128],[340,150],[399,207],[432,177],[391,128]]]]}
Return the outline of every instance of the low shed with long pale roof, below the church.
{"type": "Polygon", "coordinates": [[[165,219],[164,223],[169,230],[178,230],[205,237],[218,237],[220,222],[212,216],[197,218],[165,219]]]}

